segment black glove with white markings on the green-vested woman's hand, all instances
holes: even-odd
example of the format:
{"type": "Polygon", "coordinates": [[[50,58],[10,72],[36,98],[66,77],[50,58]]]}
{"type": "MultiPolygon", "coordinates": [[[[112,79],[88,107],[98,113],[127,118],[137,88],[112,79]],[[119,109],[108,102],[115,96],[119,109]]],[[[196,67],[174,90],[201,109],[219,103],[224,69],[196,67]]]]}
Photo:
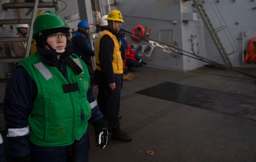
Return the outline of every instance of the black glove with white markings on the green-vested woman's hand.
{"type": "Polygon", "coordinates": [[[103,119],[95,121],[93,124],[95,132],[95,140],[97,147],[104,148],[108,142],[108,129],[107,124],[103,119]]]}

